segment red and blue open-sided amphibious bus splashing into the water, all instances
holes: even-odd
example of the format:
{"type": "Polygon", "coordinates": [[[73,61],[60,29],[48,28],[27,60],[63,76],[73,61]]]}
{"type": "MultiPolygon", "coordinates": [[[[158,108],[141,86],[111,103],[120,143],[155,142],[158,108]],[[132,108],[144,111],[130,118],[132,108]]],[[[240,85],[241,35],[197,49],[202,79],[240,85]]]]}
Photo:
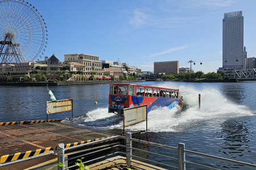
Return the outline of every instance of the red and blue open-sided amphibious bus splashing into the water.
{"type": "Polygon", "coordinates": [[[122,114],[124,108],[147,104],[147,112],[182,104],[179,89],[115,83],[109,88],[109,113],[122,114]]]}

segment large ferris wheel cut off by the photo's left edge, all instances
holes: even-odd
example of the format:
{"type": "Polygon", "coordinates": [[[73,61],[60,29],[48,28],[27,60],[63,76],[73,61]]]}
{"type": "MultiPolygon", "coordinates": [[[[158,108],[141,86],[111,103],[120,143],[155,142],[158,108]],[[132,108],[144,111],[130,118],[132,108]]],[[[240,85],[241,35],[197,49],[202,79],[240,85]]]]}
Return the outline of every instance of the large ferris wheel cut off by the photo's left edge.
{"type": "Polygon", "coordinates": [[[0,63],[41,58],[47,47],[47,32],[43,16],[30,3],[0,0],[0,63]]]}

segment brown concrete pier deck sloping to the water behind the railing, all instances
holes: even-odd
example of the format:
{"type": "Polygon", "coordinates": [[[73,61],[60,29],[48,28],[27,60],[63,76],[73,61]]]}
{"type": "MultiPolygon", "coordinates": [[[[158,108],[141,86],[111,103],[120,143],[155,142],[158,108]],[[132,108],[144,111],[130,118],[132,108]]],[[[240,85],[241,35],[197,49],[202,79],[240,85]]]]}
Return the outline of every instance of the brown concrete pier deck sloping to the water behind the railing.
{"type": "MultiPolygon", "coordinates": [[[[0,126],[0,156],[46,147],[52,147],[55,150],[59,143],[75,143],[112,135],[121,134],[106,130],[88,130],[61,122],[0,126]]],[[[55,158],[56,155],[48,155],[0,169],[26,169],[55,158]]]]}

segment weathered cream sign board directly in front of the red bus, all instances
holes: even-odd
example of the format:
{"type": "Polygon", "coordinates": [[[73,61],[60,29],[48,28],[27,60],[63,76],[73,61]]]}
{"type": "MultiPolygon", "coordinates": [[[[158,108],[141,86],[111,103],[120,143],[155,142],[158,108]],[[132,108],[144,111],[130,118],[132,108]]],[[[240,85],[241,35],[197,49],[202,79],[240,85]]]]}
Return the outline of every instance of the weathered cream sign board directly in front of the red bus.
{"type": "Polygon", "coordinates": [[[123,109],[123,127],[147,120],[147,105],[123,109]]]}

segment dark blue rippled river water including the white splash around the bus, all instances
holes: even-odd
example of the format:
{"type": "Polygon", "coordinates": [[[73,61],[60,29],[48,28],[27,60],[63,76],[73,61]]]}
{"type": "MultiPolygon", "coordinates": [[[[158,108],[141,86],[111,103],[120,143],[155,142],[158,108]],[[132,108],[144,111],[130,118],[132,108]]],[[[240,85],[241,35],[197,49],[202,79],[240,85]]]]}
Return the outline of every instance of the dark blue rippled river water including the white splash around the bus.
{"type": "MultiPolygon", "coordinates": [[[[179,108],[171,111],[160,108],[148,113],[148,133],[143,133],[141,139],[174,147],[181,142],[185,143],[186,150],[256,164],[256,82],[139,84],[179,88],[186,106],[183,112],[179,108]],[[200,109],[199,94],[201,94],[200,109]]],[[[74,118],[72,121],[64,121],[65,123],[122,133],[122,118],[108,113],[109,84],[57,86],[49,87],[49,90],[52,90],[57,100],[73,99],[74,118]],[[94,104],[95,91],[97,91],[97,105],[94,104]]],[[[46,87],[0,86],[0,94],[0,122],[46,120],[48,97],[46,87]]],[[[70,118],[71,115],[71,112],[57,113],[49,115],[49,119],[70,118]]],[[[126,131],[145,129],[146,123],[142,122],[127,127],[126,131]]],[[[159,150],[152,146],[139,147],[148,151],[161,151],[166,155],[174,152],[159,150]]],[[[141,156],[166,164],[171,163],[170,160],[155,155],[141,156]]],[[[177,153],[174,152],[170,156],[177,157],[177,153]]],[[[220,169],[250,169],[188,154],[186,159],[220,169]]],[[[186,167],[200,169],[188,164],[186,167]]]]}

